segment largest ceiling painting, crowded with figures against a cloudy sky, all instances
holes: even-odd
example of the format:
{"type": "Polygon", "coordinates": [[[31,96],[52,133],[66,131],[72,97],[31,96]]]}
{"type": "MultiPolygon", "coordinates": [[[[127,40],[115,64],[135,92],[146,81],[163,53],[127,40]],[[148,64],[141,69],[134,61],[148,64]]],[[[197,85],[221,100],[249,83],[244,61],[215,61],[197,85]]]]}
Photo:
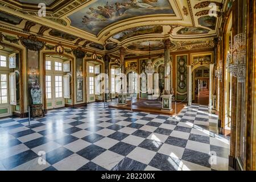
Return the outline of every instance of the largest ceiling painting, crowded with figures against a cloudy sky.
{"type": "Polygon", "coordinates": [[[69,15],[71,26],[94,35],[120,20],[156,14],[174,14],[168,0],[99,0],[69,15]]]}

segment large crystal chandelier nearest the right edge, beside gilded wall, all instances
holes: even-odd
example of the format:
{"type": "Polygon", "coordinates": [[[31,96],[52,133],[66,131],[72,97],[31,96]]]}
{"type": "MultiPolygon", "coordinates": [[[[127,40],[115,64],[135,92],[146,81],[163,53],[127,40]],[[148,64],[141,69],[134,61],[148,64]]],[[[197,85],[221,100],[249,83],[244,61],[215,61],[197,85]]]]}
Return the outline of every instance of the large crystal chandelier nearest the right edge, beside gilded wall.
{"type": "Polygon", "coordinates": [[[246,34],[234,36],[234,47],[230,44],[227,57],[227,67],[238,82],[244,82],[246,76],[246,34]]]}

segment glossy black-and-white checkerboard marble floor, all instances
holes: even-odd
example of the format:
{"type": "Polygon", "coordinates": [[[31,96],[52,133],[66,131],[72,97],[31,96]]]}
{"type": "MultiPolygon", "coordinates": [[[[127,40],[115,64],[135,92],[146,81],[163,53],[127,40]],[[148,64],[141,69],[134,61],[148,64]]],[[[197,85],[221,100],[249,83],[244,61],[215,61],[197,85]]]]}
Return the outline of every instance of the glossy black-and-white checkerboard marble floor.
{"type": "Polygon", "coordinates": [[[92,103],[0,119],[0,170],[228,170],[229,138],[205,106],[175,118],[92,103]],[[44,160],[46,162],[44,163],[44,160]]]}

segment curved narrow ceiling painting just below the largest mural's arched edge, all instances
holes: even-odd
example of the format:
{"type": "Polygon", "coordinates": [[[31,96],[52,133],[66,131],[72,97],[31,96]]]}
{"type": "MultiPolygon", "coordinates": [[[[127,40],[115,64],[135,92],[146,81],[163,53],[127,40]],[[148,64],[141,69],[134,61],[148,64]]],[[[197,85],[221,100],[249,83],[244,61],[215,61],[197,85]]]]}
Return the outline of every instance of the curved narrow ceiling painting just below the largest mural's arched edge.
{"type": "Polygon", "coordinates": [[[119,42],[122,42],[125,39],[131,38],[133,36],[146,35],[146,34],[162,34],[162,26],[143,26],[143,27],[134,27],[128,30],[119,32],[113,36],[113,39],[117,39],[119,42]]]}

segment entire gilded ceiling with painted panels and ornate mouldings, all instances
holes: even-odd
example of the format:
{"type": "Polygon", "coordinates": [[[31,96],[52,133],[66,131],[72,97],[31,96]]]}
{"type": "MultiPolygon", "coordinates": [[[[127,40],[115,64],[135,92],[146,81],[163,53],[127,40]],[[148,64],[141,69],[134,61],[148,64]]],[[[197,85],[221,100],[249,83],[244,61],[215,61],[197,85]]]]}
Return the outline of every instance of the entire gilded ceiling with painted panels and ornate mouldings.
{"type": "Polygon", "coordinates": [[[229,1],[0,0],[0,22],[3,28],[28,29],[56,42],[117,56],[120,47],[127,55],[146,53],[148,42],[158,42],[153,51],[163,52],[160,42],[166,38],[175,44],[172,51],[181,51],[214,46],[229,1]],[[38,15],[39,2],[46,4],[45,17],[38,15]],[[216,4],[216,15],[209,14],[210,3],[216,4]],[[35,25],[24,28],[27,22],[35,25]]]}

